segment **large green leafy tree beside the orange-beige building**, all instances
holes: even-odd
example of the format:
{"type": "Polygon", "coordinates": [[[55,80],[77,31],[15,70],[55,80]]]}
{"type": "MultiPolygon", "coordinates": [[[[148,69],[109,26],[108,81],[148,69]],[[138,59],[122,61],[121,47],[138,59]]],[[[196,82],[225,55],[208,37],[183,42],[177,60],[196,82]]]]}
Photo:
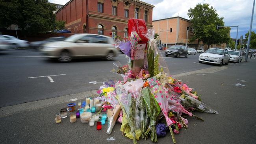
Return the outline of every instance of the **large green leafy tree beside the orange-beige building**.
{"type": "Polygon", "coordinates": [[[207,49],[211,44],[221,44],[228,42],[230,39],[230,28],[216,29],[217,25],[224,26],[224,18],[219,18],[216,10],[209,6],[209,4],[197,4],[193,9],[190,8],[187,13],[193,28],[190,41],[198,40],[198,44],[202,41],[208,45],[207,49]]]}

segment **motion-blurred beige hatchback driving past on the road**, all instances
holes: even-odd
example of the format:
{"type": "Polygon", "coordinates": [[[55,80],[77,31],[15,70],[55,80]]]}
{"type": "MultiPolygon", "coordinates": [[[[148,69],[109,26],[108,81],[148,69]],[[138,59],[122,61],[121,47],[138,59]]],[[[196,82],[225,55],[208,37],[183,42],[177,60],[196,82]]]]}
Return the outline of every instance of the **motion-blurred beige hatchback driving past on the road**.
{"type": "Polygon", "coordinates": [[[111,37],[81,33],[72,35],[65,41],[47,43],[41,51],[60,62],[84,57],[105,57],[107,60],[113,60],[118,53],[114,44],[111,37]]]}

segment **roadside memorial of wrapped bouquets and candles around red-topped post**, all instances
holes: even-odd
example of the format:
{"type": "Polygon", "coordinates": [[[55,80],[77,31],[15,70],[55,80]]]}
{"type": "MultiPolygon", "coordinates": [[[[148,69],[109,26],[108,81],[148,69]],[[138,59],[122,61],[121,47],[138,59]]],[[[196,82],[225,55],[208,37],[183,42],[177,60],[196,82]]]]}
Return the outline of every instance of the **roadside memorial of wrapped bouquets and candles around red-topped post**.
{"type": "MultiPolygon", "coordinates": [[[[187,116],[204,121],[193,111],[218,114],[201,102],[197,92],[186,83],[171,76],[157,48],[154,30],[147,30],[144,20],[129,19],[128,34],[128,39],[119,37],[116,44],[128,62],[126,65],[114,62],[111,70],[122,79],[104,82],[97,90],[98,97],[86,98],[78,107],[77,115],[72,112],[72,118],[79,115],[80,121],[90,126],[96,122],[97,130],[106,125],[107,134],[111,134],[115,123],[120,122],[122,135],[132,139],[134,144],[139,138],[148,137],[158,142],[158,138],[165,137],[169,131],[170,141],[176,144],[174,134],[182,127],[187,129],[187,116]]],[[[69,111],[75,111],[75,105],[70,103],[69,111]]],[[[61,109],[61,114],[56,115],[56,123],[60,122],[59,116],[66,118],[67,109],[61,109]]],[[[70,118],[70,122],[76,121],[70,118]]]]}

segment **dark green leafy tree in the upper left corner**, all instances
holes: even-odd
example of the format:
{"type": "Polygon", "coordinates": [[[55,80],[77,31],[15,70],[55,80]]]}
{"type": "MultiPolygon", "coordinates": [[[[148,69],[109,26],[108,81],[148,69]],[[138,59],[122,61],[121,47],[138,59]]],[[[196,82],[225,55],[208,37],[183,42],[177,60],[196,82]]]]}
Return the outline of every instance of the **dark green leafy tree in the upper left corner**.
{"type": "Polygon", "coordinates": [[[0,7],[0,27],[17,25],[25,36],[46,33],[64,25],[56,22],[53,13],[56,7],[48,0],[0,0],[0,7]]]}

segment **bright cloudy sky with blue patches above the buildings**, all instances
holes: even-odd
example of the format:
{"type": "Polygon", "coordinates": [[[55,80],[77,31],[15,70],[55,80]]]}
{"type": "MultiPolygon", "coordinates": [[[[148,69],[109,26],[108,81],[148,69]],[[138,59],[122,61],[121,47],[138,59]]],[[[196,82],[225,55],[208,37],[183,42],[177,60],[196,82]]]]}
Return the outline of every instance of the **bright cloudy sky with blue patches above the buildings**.
{"type": "MultiPolygon", "coordinates": [[[[56,4],[66,4],[69,0],[48,0],[56,4]]],[[[252,15],[253,0],[141,0],[154,5],[153,20],[180,16],[189,19],[187,10],[197,4],[208,3],[217,10],[219,17],[224,17],[225,26],[237,26],[238,39],[240,35],[245,37],[245,33],[250,28],[250,18],[252,15]]],[[[256,8],[252,22],[252,31],[256,31],[256,8]]],[[[230,36],[236,38],[236,27],[230,31],[230,36]]]]}

